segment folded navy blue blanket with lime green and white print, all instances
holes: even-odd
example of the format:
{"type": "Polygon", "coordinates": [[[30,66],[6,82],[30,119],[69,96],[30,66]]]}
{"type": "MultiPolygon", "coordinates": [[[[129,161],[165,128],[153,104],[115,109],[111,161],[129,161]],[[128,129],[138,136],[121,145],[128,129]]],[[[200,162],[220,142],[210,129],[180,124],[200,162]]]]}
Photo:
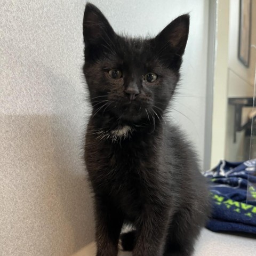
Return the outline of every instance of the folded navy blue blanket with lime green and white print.
{"type": "Polygon", "coordinates": [[[256,159],[231,163],[220,161],[206,171],[212,196],[212,231],[256,234],[256,159]]]}

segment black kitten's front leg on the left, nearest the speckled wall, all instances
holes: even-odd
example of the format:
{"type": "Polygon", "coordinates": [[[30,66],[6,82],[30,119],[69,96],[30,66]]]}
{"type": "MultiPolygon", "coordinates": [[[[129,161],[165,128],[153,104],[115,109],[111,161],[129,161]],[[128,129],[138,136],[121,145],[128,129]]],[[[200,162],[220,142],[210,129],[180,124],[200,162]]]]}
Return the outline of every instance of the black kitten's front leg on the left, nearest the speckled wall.
{"type": "Polygon", "coordinates": [[[95,197],[97,256],[117,256],[123,215],[107,198],[95,197]]]}

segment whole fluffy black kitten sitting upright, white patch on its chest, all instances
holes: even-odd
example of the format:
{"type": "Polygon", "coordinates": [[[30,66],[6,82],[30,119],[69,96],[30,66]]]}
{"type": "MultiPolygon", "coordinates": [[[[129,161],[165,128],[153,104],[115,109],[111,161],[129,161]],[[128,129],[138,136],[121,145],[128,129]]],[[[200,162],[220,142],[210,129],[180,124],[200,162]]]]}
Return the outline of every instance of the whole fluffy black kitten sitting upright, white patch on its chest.
{"type": "Polygon", "coordinates": [[[135,227],[123,236],[133,256],[191,255],[209,213],[208,192],[194,150],[164,120],[179,81],[189,16],[155,38],[127,38],[87,4],[83,29],[92,104],[85,160],[97,256],[117,255],[124,223],[135,227]]]}

